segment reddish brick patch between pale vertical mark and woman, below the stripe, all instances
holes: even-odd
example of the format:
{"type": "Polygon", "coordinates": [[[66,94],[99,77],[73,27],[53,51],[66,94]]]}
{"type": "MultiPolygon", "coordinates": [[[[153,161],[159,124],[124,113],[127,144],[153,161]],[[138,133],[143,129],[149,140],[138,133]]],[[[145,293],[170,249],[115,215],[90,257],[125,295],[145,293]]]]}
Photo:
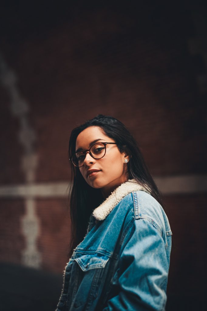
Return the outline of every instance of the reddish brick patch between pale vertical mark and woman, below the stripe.
{"type": "Polygon", "coordinates": [[[70,242],[70,217],[66,200],[38,200],[36,211],[41,228],[37,242],[42,255],[41,267],[46,271],[61,273],[68,262],[70,242]]]}

